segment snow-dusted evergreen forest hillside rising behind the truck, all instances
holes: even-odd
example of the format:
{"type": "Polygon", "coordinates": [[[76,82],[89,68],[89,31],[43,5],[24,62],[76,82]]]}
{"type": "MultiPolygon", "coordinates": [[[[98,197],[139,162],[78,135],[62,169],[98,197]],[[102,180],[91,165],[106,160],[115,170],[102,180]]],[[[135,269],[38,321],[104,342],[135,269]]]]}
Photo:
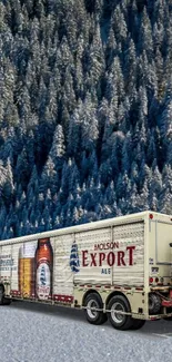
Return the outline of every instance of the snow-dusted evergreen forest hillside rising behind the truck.
{"type": "Polygon", "coordinates": [[[170,0],[1,0],[0,238],[172,214],[170,0]]]}

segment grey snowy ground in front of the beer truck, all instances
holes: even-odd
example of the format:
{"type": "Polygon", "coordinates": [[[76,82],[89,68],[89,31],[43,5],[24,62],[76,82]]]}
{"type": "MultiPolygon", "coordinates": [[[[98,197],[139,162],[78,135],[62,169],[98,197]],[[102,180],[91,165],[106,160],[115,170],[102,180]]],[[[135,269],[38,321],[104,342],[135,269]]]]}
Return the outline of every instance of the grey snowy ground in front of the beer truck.
{"type": "Polygon", "coordinates": [[[119,332],[82,311],[14,302],[0,307],[0,362],[170,362],[172,322],[119,332]]]}

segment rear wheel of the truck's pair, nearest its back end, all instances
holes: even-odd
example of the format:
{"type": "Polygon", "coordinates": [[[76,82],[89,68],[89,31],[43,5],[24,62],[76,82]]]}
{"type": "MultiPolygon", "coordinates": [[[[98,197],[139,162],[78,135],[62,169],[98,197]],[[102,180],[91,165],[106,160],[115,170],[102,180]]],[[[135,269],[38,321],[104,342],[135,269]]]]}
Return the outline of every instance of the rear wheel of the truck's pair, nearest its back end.
{"type": "Polygon", "coordinates": [[[124,296],[114,295],[108,304],[108,310],[110,311],[108,313],[110,323],[114,329],[127,331],[132,327],[133,319],[131,317],[131,315],[120,314],[115,312],[121,311],[130,313],[130,305],[124,296]]]}

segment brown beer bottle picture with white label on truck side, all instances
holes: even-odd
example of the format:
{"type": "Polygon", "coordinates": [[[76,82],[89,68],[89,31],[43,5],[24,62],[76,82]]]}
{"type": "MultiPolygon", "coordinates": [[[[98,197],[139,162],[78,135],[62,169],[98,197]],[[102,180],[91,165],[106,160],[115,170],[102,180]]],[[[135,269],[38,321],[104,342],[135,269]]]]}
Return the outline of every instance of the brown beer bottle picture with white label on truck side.
{"type": "Polygon", "coordinates": [[[38,241],[36,251],[36,297],[52,297],[53,251],[49,238],[38,241]]]}

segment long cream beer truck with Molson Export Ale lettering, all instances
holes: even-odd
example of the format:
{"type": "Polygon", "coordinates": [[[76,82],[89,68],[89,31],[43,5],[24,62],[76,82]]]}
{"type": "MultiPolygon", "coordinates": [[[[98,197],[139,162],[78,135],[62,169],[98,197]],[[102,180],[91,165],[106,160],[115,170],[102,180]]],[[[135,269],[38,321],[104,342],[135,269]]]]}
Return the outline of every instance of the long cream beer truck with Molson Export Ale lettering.
{"type": "Polygon", "coordinates": [[[172,216],[151,211],[0,242],[0,305],[82,309],[117,330],[172,320],[172,216]]]}

